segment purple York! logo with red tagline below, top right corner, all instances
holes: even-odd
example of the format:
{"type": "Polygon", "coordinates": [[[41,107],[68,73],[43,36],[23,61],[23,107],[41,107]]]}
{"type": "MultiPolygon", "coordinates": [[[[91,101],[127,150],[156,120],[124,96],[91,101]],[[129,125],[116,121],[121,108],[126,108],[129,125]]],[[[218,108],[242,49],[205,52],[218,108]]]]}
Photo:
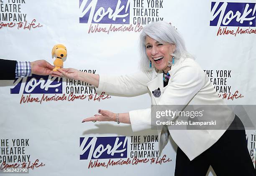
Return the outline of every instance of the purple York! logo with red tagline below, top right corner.
{"type": "Polygon", "coordinates": [[[218,35],[256,34],[256,3],[212,2],[210,26],[218,35]]]}

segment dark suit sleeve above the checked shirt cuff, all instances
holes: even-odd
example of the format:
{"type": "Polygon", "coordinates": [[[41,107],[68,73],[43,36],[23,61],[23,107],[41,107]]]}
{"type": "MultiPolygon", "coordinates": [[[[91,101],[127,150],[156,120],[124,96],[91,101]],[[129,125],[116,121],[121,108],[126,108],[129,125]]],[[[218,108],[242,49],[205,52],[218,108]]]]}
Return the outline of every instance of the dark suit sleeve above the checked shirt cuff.
{"type": "Polygon", "coordinates": [[[15,60],[0,59],[0,80],[11,80],[15,79],[15,60]]]}

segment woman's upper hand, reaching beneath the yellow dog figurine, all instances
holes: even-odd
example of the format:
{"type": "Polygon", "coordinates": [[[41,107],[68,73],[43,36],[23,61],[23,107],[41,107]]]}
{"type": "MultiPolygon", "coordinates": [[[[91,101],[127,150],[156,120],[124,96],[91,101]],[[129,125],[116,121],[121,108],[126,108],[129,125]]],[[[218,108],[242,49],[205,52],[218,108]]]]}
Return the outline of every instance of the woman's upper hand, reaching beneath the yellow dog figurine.
{"type": "Polygon", "coordinates": [[[61,68],[61,69],[57,69],[58,72],[53,72],[53,74],[51,74],[51,76],[53,77],[65,77],[65,78],[69,78],[69,79],[79,79],[79,70],[77,69],[73,69],[73,68],[61,68]]]}

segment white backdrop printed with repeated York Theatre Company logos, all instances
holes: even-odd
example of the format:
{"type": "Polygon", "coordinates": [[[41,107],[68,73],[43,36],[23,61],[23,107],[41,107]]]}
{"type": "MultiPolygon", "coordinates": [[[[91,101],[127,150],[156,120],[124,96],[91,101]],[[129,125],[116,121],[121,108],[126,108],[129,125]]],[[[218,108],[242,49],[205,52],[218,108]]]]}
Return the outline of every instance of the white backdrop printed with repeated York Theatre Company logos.
{"type": "MultiPolygon", "coordinates": [[[[256,104],[255,0],[0,0],[0,58],[53,63],[67,47],[64,67],[95,74],[138,70],[138,36],[164,20],[228,104],[256,104]]],[[[86,82],[51,76],[0,81],[0,165],[35,176],[174,175],[176,144],[159,157],[156,131],[130,125],[81,123],[98,109],[115,113],[150,107],[150,97],[96,94],[86,82]]],[[[247,132],[255,161],[255,131],[247,132]]],[[[231,148],[232,146],[230,146],[231,148]]],[[[239,152],[239,151],[237,151],[239,152]]],[[[233,155],[233,153],[230,153],[233,155]]],[[[232,162],[232,161],[230,161],[232,162]]],[[[26,175],[26,174],[23,174],[26,175]]],[[[215,175],[209,169],[209,176],[215,175]]]]}

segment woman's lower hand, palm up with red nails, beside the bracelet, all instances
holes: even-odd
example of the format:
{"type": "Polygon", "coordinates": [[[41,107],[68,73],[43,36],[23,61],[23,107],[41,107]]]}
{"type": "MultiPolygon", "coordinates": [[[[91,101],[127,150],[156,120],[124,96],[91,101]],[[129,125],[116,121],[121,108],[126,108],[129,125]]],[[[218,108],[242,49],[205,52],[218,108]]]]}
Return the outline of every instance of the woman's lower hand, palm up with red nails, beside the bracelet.
{"type": "Polygon", "coordinates": [[[95,114],[94,117],[83,119],[82,123],[85,121],[116,121],[116,114],[113,112],[99,109],[98,113],[100,114],[95,114]]]}

